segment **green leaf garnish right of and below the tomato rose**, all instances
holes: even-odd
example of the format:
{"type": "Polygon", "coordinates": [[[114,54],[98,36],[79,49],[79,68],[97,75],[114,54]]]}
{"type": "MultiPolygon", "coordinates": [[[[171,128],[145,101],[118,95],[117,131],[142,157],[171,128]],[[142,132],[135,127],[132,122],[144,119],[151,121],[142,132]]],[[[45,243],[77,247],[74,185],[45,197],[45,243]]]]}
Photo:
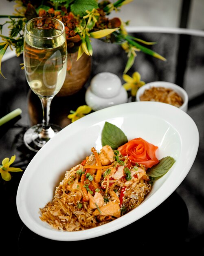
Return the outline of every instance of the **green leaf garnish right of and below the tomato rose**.
{"type": "Polygon", "coordinates": [[[175,159],[173,157],[163,157],[157,165],[147,170],[147,174],[151,177],[160,177],[167,173],[174,163],[175,159]]]}

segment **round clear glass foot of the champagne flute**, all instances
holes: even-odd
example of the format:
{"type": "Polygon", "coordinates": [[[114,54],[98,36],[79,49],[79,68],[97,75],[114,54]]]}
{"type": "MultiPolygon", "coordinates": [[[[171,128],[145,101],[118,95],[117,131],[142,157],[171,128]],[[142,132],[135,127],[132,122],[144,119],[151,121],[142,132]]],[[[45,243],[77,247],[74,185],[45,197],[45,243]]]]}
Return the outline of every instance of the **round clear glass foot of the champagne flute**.
{"type": "Polygon", "coordinates": [[[38,152],[46,142],[51,139],[62,128],[56,124],[50,124],[50,128],[45,130],[42,128],[42,124],[37,124],[29,128],[23,137],[24,144],[30,150],[38,152]]]}

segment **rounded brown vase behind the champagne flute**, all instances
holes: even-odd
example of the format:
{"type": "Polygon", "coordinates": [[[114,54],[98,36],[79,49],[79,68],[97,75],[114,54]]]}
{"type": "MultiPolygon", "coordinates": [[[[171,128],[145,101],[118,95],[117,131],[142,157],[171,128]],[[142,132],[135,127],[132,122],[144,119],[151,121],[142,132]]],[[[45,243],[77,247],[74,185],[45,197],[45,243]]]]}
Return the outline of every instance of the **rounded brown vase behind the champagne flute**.
{"type": "Polygon", "coordinates": [[[77,61],[78,52],[68,54],[68,71],[61,90],[56,96],[69,96],[79,92],[88,81],[91,73],[92,58],[83,53],[77,61]]]}

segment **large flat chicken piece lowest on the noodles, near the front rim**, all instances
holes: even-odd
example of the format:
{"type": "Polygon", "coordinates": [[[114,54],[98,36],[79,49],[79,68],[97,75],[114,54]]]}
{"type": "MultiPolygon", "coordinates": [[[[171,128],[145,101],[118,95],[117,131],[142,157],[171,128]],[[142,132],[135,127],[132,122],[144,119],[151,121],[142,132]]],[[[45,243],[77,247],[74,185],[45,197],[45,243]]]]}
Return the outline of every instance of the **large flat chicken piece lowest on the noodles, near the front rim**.
{"type": "Polygon", "coordinates": [[[99,207],[99,210],[96,209],[93,215],[114,216],[116,218],[121,216],[121,209],[118,202],[110,201],[102,207],[99,207]]]}

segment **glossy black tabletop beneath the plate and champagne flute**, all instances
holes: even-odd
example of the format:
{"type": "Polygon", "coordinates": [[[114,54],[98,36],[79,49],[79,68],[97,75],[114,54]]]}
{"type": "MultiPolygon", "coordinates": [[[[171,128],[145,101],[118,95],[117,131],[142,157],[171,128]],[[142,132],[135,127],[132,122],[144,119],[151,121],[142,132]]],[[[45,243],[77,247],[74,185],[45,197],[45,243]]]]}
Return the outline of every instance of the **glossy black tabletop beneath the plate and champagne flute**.
{"type": "MultiPolygon", "coordinates": [[[[103,248],[105,253],[106,250],[117,253],[121,249],[130,253],[147,250],[150,253],[204,253],[204,36],[168,32],[140,32],[133,35],[146,41],[157,41],[158,44],[151,49],[167,58],[167,62],[138,52],[136,61],[127,74],[132,75],[138,71],[145,83],[176,83],[189,95],[187,114],[195,121],[200,134],[200,145],[191,170],[167,200],[140,220],[111,234],[76,242],[49,240],[29,230],[18,216],[16,208],[16,193],[24,172],[11,173],[9,182],[0,177],[1,247],[8,253],[53,255],[54,252],[64,254],[76,250],[76,253],[97,254],[103,248]]],[[[99,40],[92,44],[94,54],[90,79],[99,72],[112,72],[125,83],[122,75],[127,59],[121,47],[107,45],[99,40]]],[[[15,154],[16,160],[12,166],[25,171],[35,153],[26,148],[23,135],[27,128],[41,121],[42,109],[39,99],[29,89],[20,63],[23,63],[22,56],[2,63],[2,72],[7,79],[0,77],[0,117],[16,108],[22,109],[22,115],[0,126],[0,161],[15,154]],[[31,115],[29,109],[35,115],[31,115]]],[[[69,111],[86,104],[84,94],[90,79],[78,93],[68,97],[56,96],[53,99],[51,123],[62,127],[70,124],[67,118],[69,111]]],[[[134,99],[129,98],[129,101],[132,100],[134,99]]]]}

